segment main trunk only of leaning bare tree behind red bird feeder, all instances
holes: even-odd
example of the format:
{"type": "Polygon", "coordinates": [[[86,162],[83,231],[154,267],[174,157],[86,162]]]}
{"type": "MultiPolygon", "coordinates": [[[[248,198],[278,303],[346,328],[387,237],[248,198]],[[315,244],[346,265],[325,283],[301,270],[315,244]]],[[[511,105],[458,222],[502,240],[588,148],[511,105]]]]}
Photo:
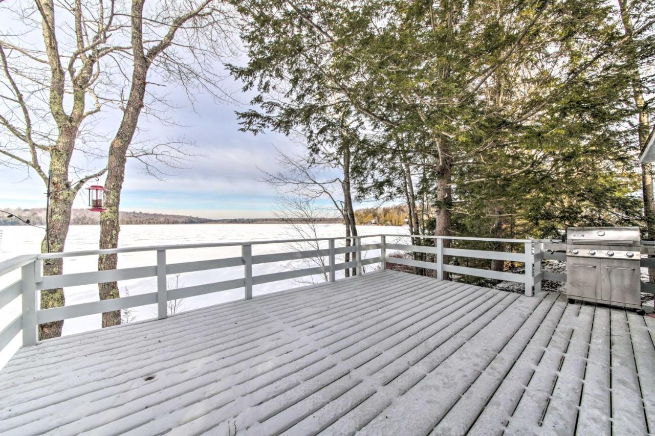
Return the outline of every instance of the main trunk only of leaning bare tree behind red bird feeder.
{"type": "MultiPolygon", "coordinates": [[[[123,113],[121,126],[109,145],[109,158],[107,164],[107,211],[100,215],[100,249],[117,248],[119,243],[119,205],[121,204],[121,190],[125,179],[126,153],[143,108],[145,96],[146,77],[148,73],[148,60],[143,54],[143,33],[141,14],[143,1],[132,3],[132,52],[134,54],[134,69],[132,71],[132,86],[130,96],[123,113]]],[[[115,254],[98,257],[98,270],[113,270],[117,268],[118,257],[115,254]]],[[[98,285],[100,300],[120,297],[118,283],[100,283],[98,285]]],[[[104,312],[102,314],[102,327],[110,327],[121,323],[121,311],[104,312]]]]}

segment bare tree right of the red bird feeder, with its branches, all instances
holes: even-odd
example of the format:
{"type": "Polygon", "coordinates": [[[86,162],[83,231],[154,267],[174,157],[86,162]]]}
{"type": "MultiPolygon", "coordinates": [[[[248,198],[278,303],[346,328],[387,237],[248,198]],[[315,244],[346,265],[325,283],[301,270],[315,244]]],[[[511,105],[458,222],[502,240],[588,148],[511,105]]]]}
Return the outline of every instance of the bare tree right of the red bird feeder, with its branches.
{"type": "MultiPolygon", "coordinates": [[[[107,211],[100,217],[100,248],[116,248],[119,241],[119,205],[125,177],[125,164],[138,127],[141,111],[147,103],[149,76],[176,82],[193,101],[195,92],[206,92],[222,98],[218,86],[221,77],[217,62],[231,54],[226,29],[231,16],[221,1],[165,1],[146,10],[144,1],[133,0],[130,10],[132,74],[130,91],[124,105],[121,124],[109,146],[106,187],[107,211]]],[[[152,86],[152,84],[151,84],[152,86]]],[[[161,101],[161,100],[159,100],[161,101]]],[[[140,158],[161,156],[156,151],[132,152],[140,158]]],[[[179,156],[179,153],[176,154],[179,156]]],[[[117,268],[117,255],[102,255],[99,270],[117,268]]],[[[100,299],[119,297],[116,282],[98,285],[100,299]]],[[[121,323],[119,311],[102,314],[102,327],[121,323]]]]}

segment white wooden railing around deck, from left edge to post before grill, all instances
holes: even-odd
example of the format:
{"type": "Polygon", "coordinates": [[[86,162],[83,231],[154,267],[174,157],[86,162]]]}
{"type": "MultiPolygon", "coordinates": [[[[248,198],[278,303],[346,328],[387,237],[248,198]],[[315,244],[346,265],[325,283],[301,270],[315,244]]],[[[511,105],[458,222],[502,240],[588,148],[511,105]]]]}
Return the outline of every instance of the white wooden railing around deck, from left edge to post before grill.
{"type": "MultiPolygon", "coordinates": [[[[493,238],[460,238],[451,236],[398,236],[396,235],[366,235],[350,237],[354,245],[345,245],[337,247],[337,240],[345,240],[341,236],[338,238],[316,238],[316,239],[296,239],[296,240],[267,240],[253,242],[223,242],[215,244],[185,244],[185,245],[157,245],[152,247],[125,247],[117,249],[88,250],[88,251],[70,251],[65,253],[47,253],[41,255],[25,255],[10,259],[0,263],[0,277],[5,276],[12,271],[21,270],[20,280],[10,284],[0,290],[0,309],[7,306],[19,296],[22,297],[21,314],[12,319],[0,331],[0,351],[9,344],[9,342],[22,331],[22,345],[33,345],[37,343],[37,327],[41,323],[59,321],[62,319],[77,318],[92,314],[101,314],[114,310],[122,310],[145,306],[147,304],[157,304],[157,318],[162,319],[168,316],[167,302],[187,297],[195,297],[209,293],[217,293],[230,289],[244,289],[244,299],[252,299],[253,285],[262,283],[271,283],[278,280],[287,280],[291,278],[300,278],[303,276],[313,276],[315,274],[326,274],[327,280],[333,282],[336,280],[335,272],[348,268],[355,268],[357,274],[364,272],[363,266],[368,264],[381,264],[386,268],[386,263],[396,263],[419,268],[429,268],[436,271],[436,277],[443,279],[443,272],[453,272],[469,276],[478,276],[496,280],[525,283],[525,295],[533,295],[534,291],[540,291],[541,280],[544,274],[541,272],[541,259],[543,255],[540,251],[540,244],[535,244],[535,240],[516,240],[516,239],[493,239],[493,238]],[[397,242],[387,242],[387,236],[397,238],[424,238],[433,239],[434,247],[425,245],[400,244],[397,242]],[[362,244],[364,238],[379,238],[379,242],[374,244],[362,244]],[[523,253],[506,253],[498,251],[484,251],[473,249],[459,249],[443,247],[443,240],[470,240],[481,242],[504,242],[510,244],[523,244],[523,253]],[[326,242],[328,247],[325,249],[311,249],[303,251],[286,251],[282,253],[253,255],[253,245],[264,244],[294,244],[307,242],[326,242]],[[227,257],[221,259],[210,259],[202,261],[191,261],[183,263],[168,263],[166,253],[182,249],[198,249],[212,247],[241,247],[241,255],[238,257],[227,257]],[[365,259],[363,253],[370,250],[379,250],[379,255],[365,259]],[[398,259],[389,257],[388,250],[414,251],[419,253],[432,253],[434,262],[418,261],[414,259],[398,259]],[[83,257],[97,256],[106,254],[134,253],[139,251],[151,251],[157,253],[157,263],[151,266],[135,266],[129,268],[117,268],[115,270],[75,272],[60,274],[56,276],[43,276],[42,264],[45,259],[62,259],[66,257],[83,257]],[[352,253],[354,260],[337,263],[337,255],[352,253]],[[526,271],[534,271],[533,274],[515,274],[511,272],[500,272],[485,270],[482,268],[469,268],[466,266],[457,266],[443,263],[443,256],[455,257],[472,257],[477,259],[498,259],[502,261],[514,261],[525,263],[526,271]],[[260,274],[253,276],[252,267],[255,264],[273,263],[280,261],[296,261],[299,259],[309,258],[327,258],[327,264],[324,266],[313,266],[310,268],[292,269],[282,272],[269,274],[260,274]],[[202,285],[193,285],[179,287],[178,289],[167,289],[166,277],[170,274],[182,274],[186,272],[198,272],[204,270],[215,270],[220,268],[229,268],[241,266],[243,268],[242,278],[234,280],[223,280],[221,282],[205,283],[202,285]],[[133,280],[140,278],[157,278],[157,291],[144,293],[140,295],[129,295],[117,299],[101,300],[94,302],[84,302],[80,304],[71,304],[58,308],[39,309],[39,292],[47,289],[58,289],[60,287],[94,285],[97,283],[117,282],[120,280],[133,280]]],[[[318,245],[316,245],[318,247],[318,245]]]]}

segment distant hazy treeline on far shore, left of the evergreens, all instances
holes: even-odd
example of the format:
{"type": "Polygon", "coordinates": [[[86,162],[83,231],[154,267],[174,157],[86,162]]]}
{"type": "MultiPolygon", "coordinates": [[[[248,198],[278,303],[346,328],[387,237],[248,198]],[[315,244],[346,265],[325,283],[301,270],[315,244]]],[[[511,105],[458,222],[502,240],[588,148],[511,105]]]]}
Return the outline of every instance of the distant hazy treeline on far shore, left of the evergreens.
{"type": "MultiPolygon", "coordinates": [[[[29,223],[37,226],[45,225],[45,208],[36,209],[12,209],[4,208],[9,214],[16,215],[29,223]]],[[[24,225],[14,217],[7,217],[7,213],[0,215],[0,225],[24,225]]],[[[153,225],[153,224],[281,224],[278,218],[227,218],[209,219],[190,217],[186,215],[170,215],[168,213],[147,213],[147,212],[120,212],[119,221],[124,225],[153,225]]],[[[320,223],[341,223],[339,219],[319,218],[320,223]]],[[[86,209],[73,209],[71,213],[71,225],[98,225],[100,224],[100,213],[86,209]]]]}

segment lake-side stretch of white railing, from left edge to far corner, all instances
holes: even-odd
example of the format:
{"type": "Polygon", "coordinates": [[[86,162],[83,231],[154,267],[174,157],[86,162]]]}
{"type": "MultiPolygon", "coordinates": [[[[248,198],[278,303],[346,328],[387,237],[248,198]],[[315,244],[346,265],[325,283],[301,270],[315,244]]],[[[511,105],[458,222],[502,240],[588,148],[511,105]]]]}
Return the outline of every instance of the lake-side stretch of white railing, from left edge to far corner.
{"type": "Polygon", "coordinates": [[[7,322],[0,321],[3,329],[0,331],[0,351],[22,331],[22,345],[33,345],[37,343],[37,327],[39,324],[62,319],[76,318],[102,312],[111,312],[126,308],[157,304],[157,318],[162,319],[168,316],[167,302],[187,297],[195,297],[208,293],[227,291],[229,289],[244,288],[244,298],[252,299],[253,285],[261,283],[276,282],[314,274],[327,274],[329,280],[336,279],[336,272],[346,268],[357,268],[367,264],[381,263],[381,257],[364,259],[366,251],[381,249],[382,245],[362,244],[364,238],[379,238],[374,236],[359,236],[350,238],[353,245],[336,247],[335,241],[345,238],[319,238],[313,240],[272,240],[253,242],[227,242],[214,244],[186,244],[186,245],[160,245],[154,247],[126,247],[118,249],[70,251],[65,253],[48,253],[41,255],[24,255],[15,257],[0,263],[0,277],[20,269],[20,280],[0,290],[0,309],[10,302],[22,297],[21,313],[16,318],[7,322]],[[265,244],[295,244],[305,242],[327,242],[326,249],[312,249],[305,251],[287,251],[284,253],[273,253],[253,255],[253,245],[265,244]],[[241,256],[227,257],[222,259],[211,259],[203,261],[167,263],[166,253],[181,249],[199,249],[215,247],[241,247],[241,256]],[[136,266],[130,268],[119,268],[116,270],[76,272],[60,274],[56,276],[43,276],[42,264],[46,259],[62,259],[67,257],[97,256],[103,254],[135,253],[143,251],[155,251],[157,263],[153,266],[136,266]],[[354,260],[337,263],[337,255],[352,253],[354,260]],[[312,268],[293,269],[272,274],[261,274],[253,276],[252,267],[255,264],[272,263],[280,261],[293,261],[312,257],[327,257],[326,266],[315,266],[312,268]],[[202,285],[180,287],[178,289],[166,289],[166,276],[169,274],[181,274],[185,272],[198,272],[204,270],[216,270],[242,266],[243,276],[236,280],[223,280],[221,282],[206,283],[202,285]],[[39,309],[37,306],[39,291],[46,289],[58,289],[60,287],[94,285],[97,283],[115,282],[120,280],[134,280],[140,278],[157,278],[157,291],[140,295],[130,295],[111,300],[86,302],[82,304],[71,304],[58,308],[39,309]]]}

